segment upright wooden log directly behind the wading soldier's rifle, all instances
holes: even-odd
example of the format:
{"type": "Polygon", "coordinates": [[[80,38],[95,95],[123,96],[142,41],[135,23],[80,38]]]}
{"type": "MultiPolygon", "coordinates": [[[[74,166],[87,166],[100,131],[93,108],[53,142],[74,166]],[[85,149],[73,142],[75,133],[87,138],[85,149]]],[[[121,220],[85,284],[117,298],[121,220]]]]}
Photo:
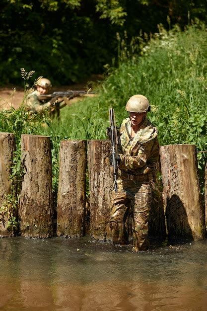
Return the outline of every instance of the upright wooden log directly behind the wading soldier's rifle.
{"type": "Polygon", "coordinates": [[[110,142],[88,142],[90,188],[90,235],[105,240],[111,238],[109,218],[113,177],[108,160],[110,142]]]}

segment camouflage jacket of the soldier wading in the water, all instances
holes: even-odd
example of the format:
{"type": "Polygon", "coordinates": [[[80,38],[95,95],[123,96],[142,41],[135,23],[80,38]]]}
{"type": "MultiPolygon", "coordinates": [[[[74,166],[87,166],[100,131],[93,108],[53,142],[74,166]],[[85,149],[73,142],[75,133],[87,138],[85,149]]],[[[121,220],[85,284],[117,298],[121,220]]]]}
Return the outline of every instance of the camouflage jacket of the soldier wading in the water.
{"type": "Polygon", "coordinates": [[[119,175],[146,174],[153,170],[159,157],[156,128],[145,119],[133,139],[130,138],[131,121],[125,119],[120,127],[121,163],[119,175]]]}

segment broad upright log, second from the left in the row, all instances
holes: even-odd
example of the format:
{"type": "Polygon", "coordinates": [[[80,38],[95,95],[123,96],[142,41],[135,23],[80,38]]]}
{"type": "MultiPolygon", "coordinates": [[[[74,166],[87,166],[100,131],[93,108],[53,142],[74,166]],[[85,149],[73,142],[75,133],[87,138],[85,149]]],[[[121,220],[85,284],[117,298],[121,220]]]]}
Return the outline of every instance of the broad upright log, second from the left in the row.
{"type": "Polygon", "coordinates": [[[25,237],[53,235],[52,160],[50,138],[22,135],[21,161],[24,168],[19,217],[25,237]]]}

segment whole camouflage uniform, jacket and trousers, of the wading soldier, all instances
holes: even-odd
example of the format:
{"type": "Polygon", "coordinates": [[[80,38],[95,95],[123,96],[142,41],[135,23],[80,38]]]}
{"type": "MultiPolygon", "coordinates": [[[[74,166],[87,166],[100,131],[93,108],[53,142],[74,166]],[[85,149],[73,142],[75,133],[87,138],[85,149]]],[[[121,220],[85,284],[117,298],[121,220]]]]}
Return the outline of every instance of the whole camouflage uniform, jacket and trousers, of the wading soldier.
{"type": "Polygon", "coordinates": [[[131,209],[133,218],[134,251],[148,248],[148,217],[152,198],[151,182],[158,160],[157,131],[145,119],[138,132],[130,139],[131,121],[123,121],[119,164],[118,193],[113,192],[110,228],[114,244],[127,244],[125,222],[131,209]]]}

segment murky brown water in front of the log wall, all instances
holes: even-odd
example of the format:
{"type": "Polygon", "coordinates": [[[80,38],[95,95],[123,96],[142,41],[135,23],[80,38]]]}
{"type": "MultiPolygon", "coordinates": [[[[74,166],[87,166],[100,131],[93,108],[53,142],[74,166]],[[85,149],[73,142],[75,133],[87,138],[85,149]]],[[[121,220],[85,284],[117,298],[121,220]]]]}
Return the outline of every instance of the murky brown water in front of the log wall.
{"type": "Polygon", "coordinates": [[[0,310],[206,311],[207,240],[136,254],[87,238],[2,238],[0,310]]]}

